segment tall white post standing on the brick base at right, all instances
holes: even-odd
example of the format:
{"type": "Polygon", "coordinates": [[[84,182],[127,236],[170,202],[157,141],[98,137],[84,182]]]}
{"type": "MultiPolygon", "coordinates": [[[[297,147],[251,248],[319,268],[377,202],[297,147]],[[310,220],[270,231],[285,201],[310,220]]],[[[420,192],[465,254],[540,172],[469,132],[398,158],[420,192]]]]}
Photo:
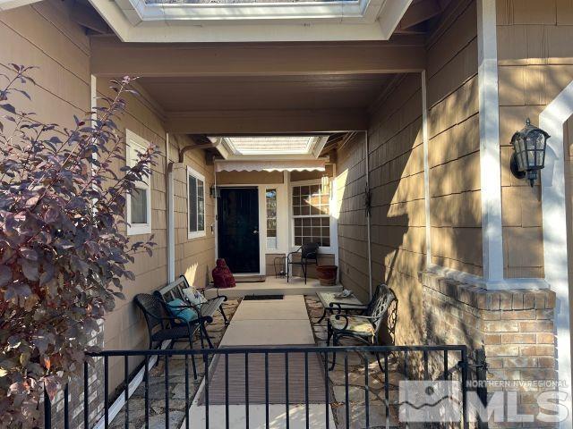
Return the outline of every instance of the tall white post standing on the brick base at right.
{"type": "Polygon", "coordinates": [[[495,0],[478,0],[477,20],[483,280],[488,289],[495,289],[496,283],[503,283],[500,103],[495,0]]]}

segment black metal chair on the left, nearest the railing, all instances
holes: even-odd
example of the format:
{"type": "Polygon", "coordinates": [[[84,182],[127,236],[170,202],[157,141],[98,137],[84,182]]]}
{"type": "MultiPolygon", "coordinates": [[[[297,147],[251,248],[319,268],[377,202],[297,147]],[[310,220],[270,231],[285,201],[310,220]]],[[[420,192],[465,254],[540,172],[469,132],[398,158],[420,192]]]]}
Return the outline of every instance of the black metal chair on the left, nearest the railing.
{"type": "MultiPolygon", "coordinates": [[[[200,332],[202,340],[201,317],[188,322],[183,317],[172,315],[165,307],[165,302],[162,299],[149,293],[136,295],[134,301],[137,307],[141,308],[141,312],[145,317],[147,329],[150,332],[150,349],[154,349],[154,343],[157,342],[157,347],[160,347],[161,343],[167,340],[172,341],[170,348],[173,348],[175,342],[188,341],[189,348],[192,349],[193,335],[197,331],[200,332]]],[[[184,307],[188,308],[187,306],[184,307]]],[[[195,357],[194,355],[191,357],[193,377],[196,379],[195,357]]]]}

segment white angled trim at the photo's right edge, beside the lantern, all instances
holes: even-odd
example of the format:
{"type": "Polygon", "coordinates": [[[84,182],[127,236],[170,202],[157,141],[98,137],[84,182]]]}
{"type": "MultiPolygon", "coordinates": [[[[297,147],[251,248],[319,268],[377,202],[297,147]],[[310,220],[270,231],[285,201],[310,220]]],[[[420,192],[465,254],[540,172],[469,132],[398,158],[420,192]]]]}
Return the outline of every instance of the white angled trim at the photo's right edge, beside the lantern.
{"type": "MultiPolygon", "coordinates": [[[[569,257],[565,188],[565,153],[563,126],[573,114],[573,82],[539,116],[539,127],[552,137],[547,140],[545,168],[541,171],[543,209],[543,261],[545,281],[556,294],[555,331],[557,333],[558,379],[567,383],[568,399],[560,401],[569,416],[560,423],[573,427],[571,412],[571,328],[569,320],[569,257]]],[[[569,240],[571,240],[569,234],[569,240]]]]}

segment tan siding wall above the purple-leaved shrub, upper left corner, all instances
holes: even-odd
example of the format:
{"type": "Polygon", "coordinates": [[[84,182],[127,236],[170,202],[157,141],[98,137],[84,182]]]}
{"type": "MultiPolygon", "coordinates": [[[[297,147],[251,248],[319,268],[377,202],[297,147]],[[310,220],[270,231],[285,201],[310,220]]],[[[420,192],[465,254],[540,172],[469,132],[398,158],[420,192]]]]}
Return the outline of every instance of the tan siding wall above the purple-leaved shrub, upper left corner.
{"type": "Polygon", "coordinates": [[[32,101],[15,96],[12,102],[35,112],[39,121],[72,127],[74,114],[83,117],[90,110],[90,39],[62,2],[0,13],[0,63],[38,67],[30,73],[38,85],[26,88],[32,101]]]}

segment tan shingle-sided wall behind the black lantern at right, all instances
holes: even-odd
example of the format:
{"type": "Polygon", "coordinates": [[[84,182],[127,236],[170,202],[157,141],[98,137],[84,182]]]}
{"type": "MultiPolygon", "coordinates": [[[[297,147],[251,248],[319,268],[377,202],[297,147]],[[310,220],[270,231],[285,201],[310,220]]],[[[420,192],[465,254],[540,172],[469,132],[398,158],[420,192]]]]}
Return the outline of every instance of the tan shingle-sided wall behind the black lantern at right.
{"type": "Polygon", "coordinates": [[[500,144],[505,274],[543,277],[541,188],[509,171],[511,136],[573,80],[573,4],[497,1],[500,144]]]}

